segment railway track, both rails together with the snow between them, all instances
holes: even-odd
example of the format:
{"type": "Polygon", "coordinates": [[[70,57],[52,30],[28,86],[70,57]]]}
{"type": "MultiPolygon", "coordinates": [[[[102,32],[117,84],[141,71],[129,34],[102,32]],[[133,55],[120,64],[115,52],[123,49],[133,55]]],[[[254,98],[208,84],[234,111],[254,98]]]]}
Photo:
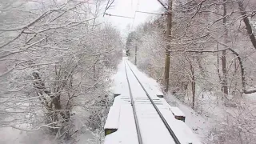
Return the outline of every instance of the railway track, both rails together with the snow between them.
{"type": "MultiPolygon", "coordinates": [[[[169,124],[166,122],[166,119],[164,118],[164,116],[162,115],[162,113],[160,112],[160,110],[158,109],[158,106],[156,104],[157,99],[153,99],[150,97],[150,94],[147,92],[147,90],[145,89],[145,87],[142,85],[142,82],[140,82],[140,80],[138,79],[138,77],[136,76],[136,74],[134,74],[134,70],[131,69],[130,65],[128,64],[128,62],[124,61],[125,64],[125,69],[126,69],[126,80],[129,86],[129,92],[130,92],[130,101],[131,101],[131,106],[133,109],[133,113],[134,113],[134,122],[135,122],[135,126],[136,126],[136,131],[137,131],[137,135],[138,135],[138,143],[139,144],[147,144],[147,143],[154,143],[154,142],[150,142],[149,139],[150,137],[152,137],[152,134],[150,134],[148,132],[148,126],[150,127],[154,127],[156,130],[161,130],[164,132],[160,132],[161,134],[169,134],[171,137],[166,137],[162,136],[159,137],[160,138],[166,138],[166,140],[164,140],[166,143],[174,143],[174,144],[181,144],[181,142],[179,142],[178,138],[176,137],[176,135],[174,134],[174,131],[170,128],[169,124]],[[131,85],[130,83],[132,82],[133,85],[131,85]],[[144,93],[144,94],[142,94],[144,93]],[[152,111],[154,111],[154,113],[150,114],[152,116],[152,118],[157,119],[158,121],[162,122],[161,126],[154,126],[154,122],[150,123],[150,122],[143,122],[143,117],[146,114],[143,114],[143,110],[141,109],[139,103],[140,102],[148,102],[147,109],[154,109],[152,111]]],[[[147,114],[149,115],[149,114],[147,114]]],[[[155,122],[157,123],[157,122],[155,122]]],[[[156,131],[157,133],[159,131],[156,131]]],[[[155,131],[154,131],[155,133],[155,131]]]]}

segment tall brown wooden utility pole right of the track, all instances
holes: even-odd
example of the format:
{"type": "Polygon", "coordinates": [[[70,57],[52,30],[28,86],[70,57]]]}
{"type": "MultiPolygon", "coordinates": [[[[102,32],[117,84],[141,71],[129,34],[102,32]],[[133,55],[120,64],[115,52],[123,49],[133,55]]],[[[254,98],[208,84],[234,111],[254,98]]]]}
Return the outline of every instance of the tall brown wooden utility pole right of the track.
{"type": "Polygon", "coordinates": [[[166,27],[166,61],[165,61],[165,92],[169,89],[170,78],[170,35],[171,35],[171,22],[172,22],[172,1],[168,1],[168,14],[167,14],[167,27],[166,27]]]}

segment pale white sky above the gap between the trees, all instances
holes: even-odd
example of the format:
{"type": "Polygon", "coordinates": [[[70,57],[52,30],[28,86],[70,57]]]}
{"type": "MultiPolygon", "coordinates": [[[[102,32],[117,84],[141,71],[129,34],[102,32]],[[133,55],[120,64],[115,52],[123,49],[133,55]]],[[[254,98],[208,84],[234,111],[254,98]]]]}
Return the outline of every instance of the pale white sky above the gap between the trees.
{"type": "MultiPolygon", "coordinates": [[[[164,2],[164,0],[162,0],[162,2],[164,2]]],[[[136,10],[158,13],[161,8],[158,0],[115,0],[112,6],[113,7],[110,10],[107,10],[106,13],[122,15],[131,18],[134,18],[136,10]]],[[[132,28],[133,21],[134,30],[136,26],[154,16],[154,14],[136,13],[135,19],[118,18],[114,16],[110,17],[108,15],[105,15],[105,18],[107,22],[111,22],[114,26],[117,26],[117,28],[121,31],[122,37],[126,37],[132,28]]]]}

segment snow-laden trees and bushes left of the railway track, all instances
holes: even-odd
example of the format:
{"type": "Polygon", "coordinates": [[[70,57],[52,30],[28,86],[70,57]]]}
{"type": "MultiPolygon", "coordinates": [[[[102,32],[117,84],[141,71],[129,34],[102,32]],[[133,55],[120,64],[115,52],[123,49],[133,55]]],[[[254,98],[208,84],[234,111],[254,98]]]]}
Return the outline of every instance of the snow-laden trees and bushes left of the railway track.
{"type": "Polygon", "coordinates": [[[0,1],[0,143],[101,143],[123,45],[104,2],[0,1]]]}

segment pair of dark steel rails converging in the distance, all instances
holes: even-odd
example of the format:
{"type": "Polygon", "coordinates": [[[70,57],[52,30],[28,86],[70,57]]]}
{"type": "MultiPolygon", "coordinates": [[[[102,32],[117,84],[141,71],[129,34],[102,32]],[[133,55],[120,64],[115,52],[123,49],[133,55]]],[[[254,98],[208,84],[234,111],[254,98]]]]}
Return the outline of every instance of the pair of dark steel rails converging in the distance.
{"type": "Polygon", "coordinates": [[[140,130],[140,126],[138,123],[138,114],[136,113],[136,106],[135,106],[135,102],[134,102],[134,97],[132,94],[132,90],[130,88],[130,81],[128,78],[128,74],[127,74],[127,68],[126,65],[129,67],[130,71],[132,72],[132,74],[134,75],[134,77],[137,79],[138,83],[140,84],[140,86],[142,87],[142,89],[144,90],[147,98],[149,98],[150,103],[152,104],[152,106],[154,106],[154,109],[157,111],[158,116],[161,118],[162,122],[164,123],[164,125],[166,126],[166,129],[169,131],[171,137],[174,139],[174,142],[176,144],[181,144],[181,142],[179,142],[178,138],[176,137],[176,135],[174,134],[174,131],[171,130],[168,122],[166,122],[166,119],[163,117],[163,115],[161,114],[160,110],[158,109],[158,106],[156,106],[156,104],[154,103],[153,99],[150,98],[150,94],[146,91],[145,87],[142,85],[142,82],[139,81],[138,77],[136,76],[136,74],[134,74],[134,71],[130,68],[129,64],[127,62],[125,62],[125,69],[126,69],[126,79],[128,82],[128,86],[129,86],[129,92],[130,92],[130,101],[131,101],[131,106],[134,112],[134,121],[135,121],[135,126],[136,126],[136,130],[137,130],[137,135],[138,135],[138,143],[142,144],[142,133],[140,130]]]}

